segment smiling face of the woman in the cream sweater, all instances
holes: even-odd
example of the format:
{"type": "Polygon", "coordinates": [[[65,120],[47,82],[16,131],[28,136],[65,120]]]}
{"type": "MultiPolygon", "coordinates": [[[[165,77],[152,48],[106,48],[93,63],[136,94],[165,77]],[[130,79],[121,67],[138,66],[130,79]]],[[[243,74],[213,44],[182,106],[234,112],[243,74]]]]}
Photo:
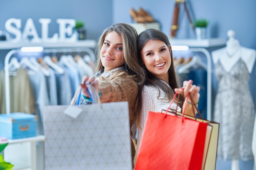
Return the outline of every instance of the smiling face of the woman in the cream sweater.
{"type": "Polygon", "coordinates": [[[171,66],[171,45],[163,41],[149,39],[141,50],[141,60],[147,70],[168,83],[168,70],[171,66]]]}

